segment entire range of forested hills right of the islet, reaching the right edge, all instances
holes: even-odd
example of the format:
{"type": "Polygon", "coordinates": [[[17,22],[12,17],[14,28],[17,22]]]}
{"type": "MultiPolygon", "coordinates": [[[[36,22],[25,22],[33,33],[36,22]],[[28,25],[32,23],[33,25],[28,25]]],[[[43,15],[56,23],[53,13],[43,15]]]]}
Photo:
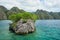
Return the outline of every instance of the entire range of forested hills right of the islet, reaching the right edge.
{"type": "Polygon", "coordinates": [[[60,19],[60,12],[48,12],[45,10],[37,10],[35,12],[39,19],[60,19]]]}

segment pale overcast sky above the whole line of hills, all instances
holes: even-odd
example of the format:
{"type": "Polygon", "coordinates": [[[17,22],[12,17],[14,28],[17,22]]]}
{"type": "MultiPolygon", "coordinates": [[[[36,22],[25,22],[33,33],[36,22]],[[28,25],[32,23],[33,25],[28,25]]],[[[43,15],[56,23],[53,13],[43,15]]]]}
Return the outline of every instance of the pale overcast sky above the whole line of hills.
{"type": "Polygon", "coordinates": [[[8,9],[16,6],[25,11],[36,11],[37,9],[60,11],[60,0],[0,0],[0,5],[8,9]]]}

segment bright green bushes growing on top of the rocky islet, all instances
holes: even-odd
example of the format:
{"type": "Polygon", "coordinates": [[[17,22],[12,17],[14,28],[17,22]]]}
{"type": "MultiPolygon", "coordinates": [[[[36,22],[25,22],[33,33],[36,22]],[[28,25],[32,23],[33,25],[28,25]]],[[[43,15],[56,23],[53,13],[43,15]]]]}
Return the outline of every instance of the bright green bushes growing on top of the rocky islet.
{"type": "Polygon", "coordinates": [[[38,17],[36,14],[33,14],[33,13],[29,13],[29,12],[23,12],[23,13],[17,13],[17,14],[12,14],[12,15],[9,15],[9,19],[16,22],[20,19],[24,19],[27,20],[27,19],[32,19],[32,20],[36,20],[38,17]]]}

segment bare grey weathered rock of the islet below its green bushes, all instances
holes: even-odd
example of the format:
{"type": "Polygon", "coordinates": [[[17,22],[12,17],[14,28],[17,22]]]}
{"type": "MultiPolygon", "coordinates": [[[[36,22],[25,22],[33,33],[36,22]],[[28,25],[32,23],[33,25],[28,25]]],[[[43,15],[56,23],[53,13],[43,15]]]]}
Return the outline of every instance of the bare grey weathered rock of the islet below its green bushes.
{"type": "MultiPolygon", "coordinates": [[[[11,29],[11,27],[10,27],[11,29]]],[[[28,34],[35,31],[34,21],[28,19],[26,23],[23,19],[17,22],[16,27],[12,28],[17,34],[28,34]]]]}

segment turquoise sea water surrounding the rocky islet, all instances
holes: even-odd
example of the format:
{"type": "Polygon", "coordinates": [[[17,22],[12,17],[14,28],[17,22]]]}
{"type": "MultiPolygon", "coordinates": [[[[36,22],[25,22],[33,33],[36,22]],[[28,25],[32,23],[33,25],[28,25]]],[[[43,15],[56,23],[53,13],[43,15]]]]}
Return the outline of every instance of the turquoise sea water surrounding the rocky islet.
{"type": "Polygon", "coordinates": [[[60,20],[37,20],[36,31],[27,35],[16,35],[9,31],[11,21],[0,21],[0,40],[60,40],[60,20]]]}

